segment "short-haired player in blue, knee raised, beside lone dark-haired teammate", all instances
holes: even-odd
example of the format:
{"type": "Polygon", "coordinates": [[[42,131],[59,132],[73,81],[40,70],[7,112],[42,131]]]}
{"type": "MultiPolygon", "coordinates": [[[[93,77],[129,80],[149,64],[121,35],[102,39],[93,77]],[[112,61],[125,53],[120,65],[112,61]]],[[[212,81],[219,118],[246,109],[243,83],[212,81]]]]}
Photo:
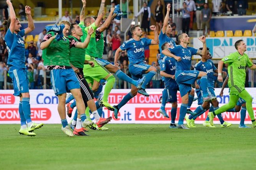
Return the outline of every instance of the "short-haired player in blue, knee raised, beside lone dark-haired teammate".
{"type": "Polygon", "coordinates": [[[183,124],[183,121],[187,112],[187,105],[189,101],[188,96],[191,91],[191,84],[194,84],[197,79],[201,78],[201,88],[203,91],[204,102],[211,101],[216,97],[211,97],[208,94],[207,73],[203,71],[190,70],[192,55],[207,54],[205,36],[201,36],[199,38],[199,40],[203,43],[203,50],[197,50],[195,48],[188,47],[188,44],[190,43],[190,38],[185,33],[179,35],[178,40],[181,45],[173,46],[170,49],[165,49],[162,51],[162,53],[170,57],[175,57],[175,59],[179,58],[178,60],[176,59],[178,62],[176,62],[175,79],[179,85],[179,89],[182,97],[182,104],[180,108],[180,118],[179,118],[177,127],[180,129],[189,129],[183,124]]]}

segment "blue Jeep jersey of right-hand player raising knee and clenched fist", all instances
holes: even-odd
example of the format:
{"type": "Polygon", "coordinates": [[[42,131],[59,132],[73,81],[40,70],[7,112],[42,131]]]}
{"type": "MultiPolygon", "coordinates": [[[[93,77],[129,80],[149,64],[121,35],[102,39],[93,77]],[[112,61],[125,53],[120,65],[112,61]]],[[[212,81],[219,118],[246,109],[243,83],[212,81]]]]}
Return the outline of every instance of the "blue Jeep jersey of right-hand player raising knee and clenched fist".
{"type": "Polygon", "coordinates": [[[172,54],[181,57],[181,61],[176,62],[176,73],[177,78],[185,70],[190,70],[192,55],[197,53],[197,49],[192,47],[184,48],[181,45],[173,46],[169,48],[172,54]]]}

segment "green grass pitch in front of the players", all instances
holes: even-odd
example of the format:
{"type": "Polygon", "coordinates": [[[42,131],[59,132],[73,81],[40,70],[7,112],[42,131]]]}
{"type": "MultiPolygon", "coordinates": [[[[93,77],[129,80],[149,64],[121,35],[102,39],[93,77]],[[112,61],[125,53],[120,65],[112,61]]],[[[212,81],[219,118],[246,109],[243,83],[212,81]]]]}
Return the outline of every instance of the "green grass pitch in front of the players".
{"type": "Polygon", "coordinates": [[[68,137],[45,124],[36,137],[0,125],[0,169],[236,170],[256,167],[256,129],[168,129],[168,124],[109,124],[109,131],[68,137]]]}

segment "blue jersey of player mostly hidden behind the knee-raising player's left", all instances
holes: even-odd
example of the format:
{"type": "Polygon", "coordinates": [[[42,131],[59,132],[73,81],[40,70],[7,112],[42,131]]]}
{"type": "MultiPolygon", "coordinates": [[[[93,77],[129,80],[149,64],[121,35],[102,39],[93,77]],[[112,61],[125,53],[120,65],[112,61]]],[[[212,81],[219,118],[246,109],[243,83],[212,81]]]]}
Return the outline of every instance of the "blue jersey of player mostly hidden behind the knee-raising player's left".
{"type": "MultiPolygon", "coordinates": [[[[161,71],[165,71],[167,74],[174,75],[176,71],[176,60],[172,57],[165,56],[163,57],[161,63],[161,71]]],[[[179,88],[176,81],[172,78],[165,77],[165,86],[168,89],[177,89],[179,88]]]]}

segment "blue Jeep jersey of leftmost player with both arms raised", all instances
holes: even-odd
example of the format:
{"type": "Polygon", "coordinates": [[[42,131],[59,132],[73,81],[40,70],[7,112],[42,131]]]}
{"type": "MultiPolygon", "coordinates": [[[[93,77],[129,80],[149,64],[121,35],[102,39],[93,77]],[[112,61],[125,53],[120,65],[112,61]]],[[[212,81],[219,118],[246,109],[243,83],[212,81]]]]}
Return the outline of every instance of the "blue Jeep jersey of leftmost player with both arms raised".
{"type": "Polygon", "coordinates": [[[25,43],[22,38],[24,35],[25,30],[21,30],[18,34],[12,33],[10,29],[7,30],[4,36],[6,48],[9,53],[7,64],[18,68],[26,68],[25,43]]]}

